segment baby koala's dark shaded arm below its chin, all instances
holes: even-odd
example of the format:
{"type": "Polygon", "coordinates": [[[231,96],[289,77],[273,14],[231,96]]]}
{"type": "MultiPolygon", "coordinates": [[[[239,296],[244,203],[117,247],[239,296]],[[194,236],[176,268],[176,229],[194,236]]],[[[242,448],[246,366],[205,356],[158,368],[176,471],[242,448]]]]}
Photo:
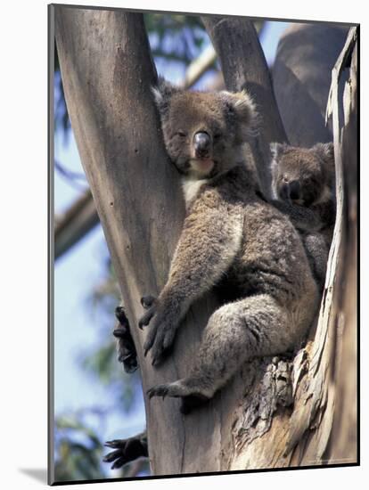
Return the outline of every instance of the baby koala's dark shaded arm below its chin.
{"type": "Polygon", "coordinates": [[[272,200],[275,208],[289,216],[292,225],[305,232],[319,232],[327,225],[334,223],[335,206],[332,200],[305,208],[282,200],[272,200]]]}

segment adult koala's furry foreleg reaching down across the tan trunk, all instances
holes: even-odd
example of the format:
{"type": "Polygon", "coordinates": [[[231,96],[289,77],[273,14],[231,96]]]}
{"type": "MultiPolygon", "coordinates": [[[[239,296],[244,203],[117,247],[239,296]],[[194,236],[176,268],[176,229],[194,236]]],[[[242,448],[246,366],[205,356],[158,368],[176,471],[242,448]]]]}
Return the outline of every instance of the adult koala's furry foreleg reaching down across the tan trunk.
{"type": "Polygon", "coordinates": [[[242,213],[225,207],[199,206],[186,217],[168,282],[140,320],[141,328],[151,323],[143,348],[145,355],[152,350],[153,364],[171,346],[193,301],[225,274],[241,246],[242,229],[242,213]]]}

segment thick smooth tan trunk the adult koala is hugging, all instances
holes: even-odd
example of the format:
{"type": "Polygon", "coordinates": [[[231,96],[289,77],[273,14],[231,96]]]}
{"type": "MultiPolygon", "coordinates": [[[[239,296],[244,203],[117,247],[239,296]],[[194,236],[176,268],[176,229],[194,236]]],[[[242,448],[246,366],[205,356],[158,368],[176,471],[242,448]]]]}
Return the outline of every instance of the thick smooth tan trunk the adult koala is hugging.
{"type": "MultiPolygon", "coordinates": [[[[184,202],[152,102],[156,73],[143,16],[66,6],[53,7],[53,13],[70,120],[127,307],[145,393],[188,372],[217,303],[209,294],[191,308],[174,354],[153,369],[150,356],[143,357],[145,332],[137,328],[140,298],[158,294],[166,281],[184,202]]],[[[206,408],[186,417],[176,399],[149,402],[145,396],[152,473],[247,470],[297,461],[296,450],[283,455],[292,412],[289,373],[283,360],[248,363],[206,408]]],[[[298,390],[307,380],[303,374],[298,390]]],[[[294,412],[301,403],[299,396],[294,412]]]]}

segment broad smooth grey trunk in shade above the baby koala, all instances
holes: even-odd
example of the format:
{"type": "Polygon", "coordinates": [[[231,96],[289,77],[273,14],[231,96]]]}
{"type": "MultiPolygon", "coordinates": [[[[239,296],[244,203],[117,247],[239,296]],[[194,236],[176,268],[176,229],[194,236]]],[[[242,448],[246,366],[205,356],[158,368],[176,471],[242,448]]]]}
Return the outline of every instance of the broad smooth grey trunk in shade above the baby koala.
{"type": "MultiPolygon", "coordinates": [[[[278,43],[272,69],[275,98],[295,146],[332,141],[325,126],[331,70],[345,44],[348,28],[330,24],[291,24],[278,43]]],[[[341,94],[341,92],[340,92],[341,94]]]]}

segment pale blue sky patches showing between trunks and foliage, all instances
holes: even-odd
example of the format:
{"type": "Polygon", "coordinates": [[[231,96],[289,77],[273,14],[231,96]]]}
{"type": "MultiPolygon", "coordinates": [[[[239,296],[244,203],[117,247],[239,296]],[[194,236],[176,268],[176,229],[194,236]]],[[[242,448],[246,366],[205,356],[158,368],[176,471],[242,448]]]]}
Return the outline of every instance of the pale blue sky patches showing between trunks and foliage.
{"type": "MultiPolygon", "coordinates": [[[[284,22],[266,23],[261,42],[268,64],[273,62],[278,38],[287,26],[288,24],[284,22]]],[[[158,69],[173,82],[184,75],[182,69],[172,69],[168,64],[160,63],[158,69]]],[[[83,174],[72,132],[67,142],[64,141],[61,132],[55,134],[55,159],[71,171],[83,174]]],[[[84,185],[83,181],[81,184],[84,185]]],[[[69,208],[80,193],[55,172],[54,207],[57,215],[69,208]]],[[[111,315],[111,324],[107,324],[105,320],[102,321],[102,318],[91,312],[87,302],[92,285],[102,281],[103,260],[106,257],[107,249],[102,228],[98,225],[55,264],[54,406],[56,414],[93,405],[110,407],[114,399],[106,388],[83,372],[78,365],[78,358],[82,352],[94,347],[102,335],[106,335],[107,338],[111,336],[113,315],[111,315]],[[103,332],[103,329],[106,332],[103,332]]],[[[117,369],[120,369],[118,363],[117,369]]],[[[98,427],[94,420],[91,423],[100,431],[102,441],[131,436],[145,426],[143,400],[140,398],[135,409],[124,418],[121,414],[111,412],[103,429],[98,427]]]]}

